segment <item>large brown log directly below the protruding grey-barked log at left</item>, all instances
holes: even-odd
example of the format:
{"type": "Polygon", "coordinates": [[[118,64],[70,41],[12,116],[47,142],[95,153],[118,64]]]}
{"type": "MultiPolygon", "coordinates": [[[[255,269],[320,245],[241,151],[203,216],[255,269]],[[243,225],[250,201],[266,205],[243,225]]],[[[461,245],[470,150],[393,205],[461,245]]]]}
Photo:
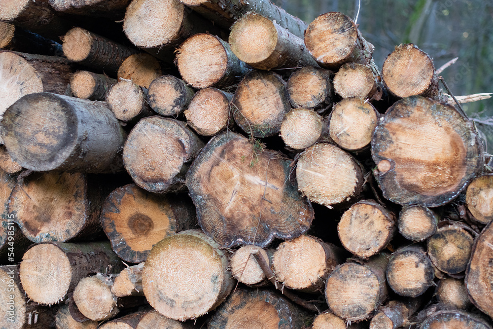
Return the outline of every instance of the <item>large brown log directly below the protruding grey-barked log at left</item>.
{"type": "Polygon", "coordinates": [[[31,241],[94,239],[101,233],[101,183],[80,173],[34,173],[14,187],[8,210],[31,241]]]}

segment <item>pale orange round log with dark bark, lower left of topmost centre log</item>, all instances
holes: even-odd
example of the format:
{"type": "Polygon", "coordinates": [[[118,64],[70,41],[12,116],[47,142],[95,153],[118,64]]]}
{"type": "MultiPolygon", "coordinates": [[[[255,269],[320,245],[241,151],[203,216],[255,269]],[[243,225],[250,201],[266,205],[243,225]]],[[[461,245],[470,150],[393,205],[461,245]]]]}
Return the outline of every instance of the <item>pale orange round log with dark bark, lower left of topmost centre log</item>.
{"type": "Polygon", "coordinates": [[[176,65],[183,80],[198,89],[229,87],[251,71],[226,41],[208,33],[186,39],[176,50],[176,65]]]}

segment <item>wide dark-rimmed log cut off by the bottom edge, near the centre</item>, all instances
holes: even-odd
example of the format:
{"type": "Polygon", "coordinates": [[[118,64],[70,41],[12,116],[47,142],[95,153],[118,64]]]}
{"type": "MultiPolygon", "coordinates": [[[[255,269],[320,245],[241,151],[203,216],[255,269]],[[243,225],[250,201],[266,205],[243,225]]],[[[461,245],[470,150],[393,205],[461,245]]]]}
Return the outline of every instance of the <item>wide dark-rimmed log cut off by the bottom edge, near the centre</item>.
{"type": "Polygon", "coordinates": [[[208,328],[304,328],[307,318],[275,292],[237,289],[214,313],[208,328]]]}

